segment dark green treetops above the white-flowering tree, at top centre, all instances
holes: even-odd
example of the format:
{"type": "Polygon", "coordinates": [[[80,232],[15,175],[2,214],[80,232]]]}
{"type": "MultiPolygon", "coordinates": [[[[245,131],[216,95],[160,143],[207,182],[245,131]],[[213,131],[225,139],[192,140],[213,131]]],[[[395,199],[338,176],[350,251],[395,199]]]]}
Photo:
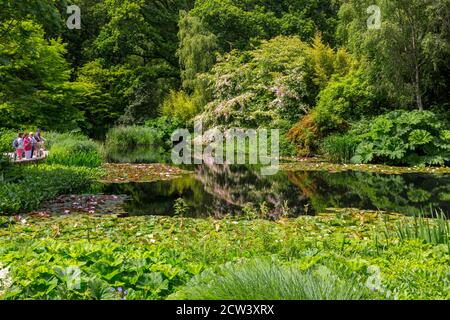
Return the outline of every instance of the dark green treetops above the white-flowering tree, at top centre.
{"type": "Polygon", "coordinates": [[[222,52],[252,49],[259,40],[297,35],[308,41],[321,31],[333,43],[338,6],[334,0],[197,0],[191,15],[214,33],[222,52]]]}

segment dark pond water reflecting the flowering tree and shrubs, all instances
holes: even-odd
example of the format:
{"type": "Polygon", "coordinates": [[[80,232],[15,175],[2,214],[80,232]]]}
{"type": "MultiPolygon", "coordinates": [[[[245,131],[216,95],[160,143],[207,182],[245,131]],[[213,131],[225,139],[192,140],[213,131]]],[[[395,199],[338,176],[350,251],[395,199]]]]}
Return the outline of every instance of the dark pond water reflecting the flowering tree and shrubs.
{"type": "Polygon", "coordinates": [[[178,198],[195,217],[240,214],[263,203],[270,216],[286,208],[290,216],[349,207],[417,214],[431,206],[450,212],[450,175],[301,171],[263,176],[256,168],[218,165],[193,171],[171,181],[111,184],[104,192],[129,195],[124,209],[130,215],[173,214],[178,198]]]}

